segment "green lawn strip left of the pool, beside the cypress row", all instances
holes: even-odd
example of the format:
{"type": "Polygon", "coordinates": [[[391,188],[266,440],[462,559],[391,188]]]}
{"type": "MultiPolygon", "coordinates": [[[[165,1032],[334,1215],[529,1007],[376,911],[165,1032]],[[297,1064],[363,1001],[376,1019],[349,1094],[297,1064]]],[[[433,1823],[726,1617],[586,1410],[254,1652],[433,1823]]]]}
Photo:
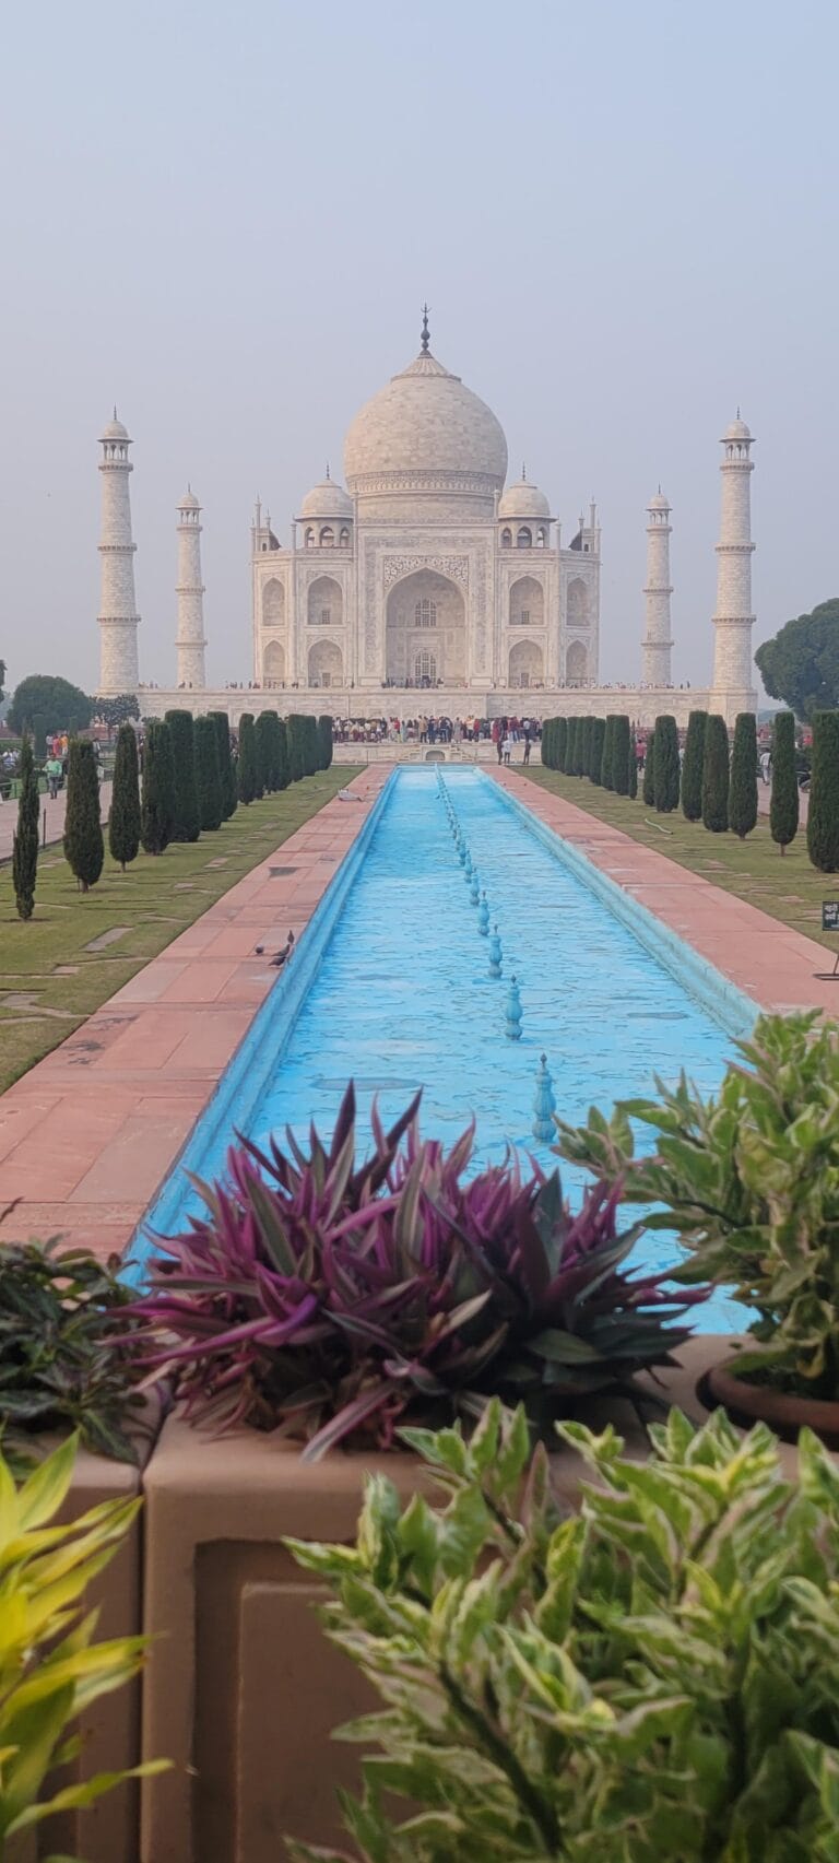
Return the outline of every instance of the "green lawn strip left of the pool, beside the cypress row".
{"type": "Polygon", "coordinates": [[[15,913],[11,863],[2,868],[0,1092],[58,1047],[116,989],[157,958],[242,874],[352,781],[347,764],[267,796],[190,846],[140,853],[125,874],[104,857],[97,887],[78,892],[60,846],[37,864],[35,915],[15,913]],[[99,948],[91,948],[99,946],[99,948]]]}

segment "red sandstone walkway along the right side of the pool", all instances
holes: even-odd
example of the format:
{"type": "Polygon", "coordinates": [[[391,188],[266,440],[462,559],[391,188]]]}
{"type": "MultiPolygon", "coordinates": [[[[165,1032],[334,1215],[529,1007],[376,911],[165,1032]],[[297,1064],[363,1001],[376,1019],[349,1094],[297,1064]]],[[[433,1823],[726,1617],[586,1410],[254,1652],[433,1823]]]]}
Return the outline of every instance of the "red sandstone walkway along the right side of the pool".
{"type": "Polygon", "coordinates": [[[770,918],[757,905],[723,892],[690,868],[667,861],[664,853],[645,848],[608,822],[585,814],[576,803],[528,782],[528,777],[520,777],[515,769],[492,769],[488,775],[526,803],[556,835],[585,853],[593,866],[647,905],[761,1008],[818,1008],[839,1015],[839,982],[817,982],[813,974],[832,969],[832,956],[824,945],[804,937],[779,918],[770,918]]]}

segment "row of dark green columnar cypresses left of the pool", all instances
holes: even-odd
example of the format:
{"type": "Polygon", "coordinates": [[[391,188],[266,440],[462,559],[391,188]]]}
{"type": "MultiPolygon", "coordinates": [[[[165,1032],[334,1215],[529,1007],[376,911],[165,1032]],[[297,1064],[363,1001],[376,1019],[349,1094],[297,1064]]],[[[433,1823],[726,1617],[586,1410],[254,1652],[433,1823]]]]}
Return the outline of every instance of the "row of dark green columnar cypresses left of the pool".
{"type": "MultiPolygon", "coordinates": [[[[285,790],[332,764],[332,719],[278,717],[244,712],[239,745],[233,745],[226,712],[194,717],[166,712],[151,719],[142,743],[123,723],[114,760],[108,818],[110,855],[121,870],[144,848],[164,853],[170,842],[194,842],[227,822],[239,805],[285,790]]],[[[13,844],[13,887],[21,918],[35,905],[41,797],[32,740],[21,753],[21,799],[13,844]]],[[[95,887],[104,866],[104,835],[99,809],[99,771],[93,745],[73,738],[67,755],[65,859],[82,892],[95,887]]]]}

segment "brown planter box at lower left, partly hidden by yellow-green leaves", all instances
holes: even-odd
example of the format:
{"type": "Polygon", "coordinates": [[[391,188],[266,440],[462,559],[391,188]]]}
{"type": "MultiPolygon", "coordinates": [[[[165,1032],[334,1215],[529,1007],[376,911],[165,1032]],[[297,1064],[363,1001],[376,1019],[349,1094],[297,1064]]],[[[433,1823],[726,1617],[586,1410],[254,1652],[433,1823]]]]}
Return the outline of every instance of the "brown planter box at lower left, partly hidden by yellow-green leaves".
{"type": "MultiPolygon", "coordinates": [[[[151,1455],[162,1412],[149,1397],[140,1418],[136,1444],[140,1466],[110,1462],[103,1455],[80,1449],[73,1485],[60,1518],[73,1520],[101,1502],[129,1500],[140,1492],[142,1470],[151,1455]]],[[[43,1438],[43,1448],[54,1448],[56,1438],[43,1438]]],[[[110,1565],[99,1574],[86,1597],[88,1610],[99,1610],[97,1639],[136,1636],[140,1632],[140,1520],[123,1541],[110,1565]]],[[[82,1751],[75,1766],[58,1783],[89,1779],[95,1772],[123,1772],[140,1759],[140,1682],[103,1695],[82,1721],[82,1751]]],[[[86,1863],[138,1863],[140,1854],[140,1792],[136,1783],[121,1785],[86,1811],[67,1811],[47,1818],[22,1837],[9,1843],[9,1863],[41,1863],[56,1854],[78,1856],[86,1863]]]]}

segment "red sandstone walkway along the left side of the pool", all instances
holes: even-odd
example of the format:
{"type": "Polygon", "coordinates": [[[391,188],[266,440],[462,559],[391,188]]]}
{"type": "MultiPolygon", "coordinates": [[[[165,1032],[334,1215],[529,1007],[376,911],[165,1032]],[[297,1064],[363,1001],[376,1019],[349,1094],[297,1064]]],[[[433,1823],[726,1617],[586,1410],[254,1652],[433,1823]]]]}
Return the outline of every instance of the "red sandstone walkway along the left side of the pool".
{"type": "Polygon", "coordinates": [[[0,1097],[6,1241],[125,1248],[390,775],[356,777],[0,1097]],[[293,874],[270,876],[272,866],[293,874]]]}

